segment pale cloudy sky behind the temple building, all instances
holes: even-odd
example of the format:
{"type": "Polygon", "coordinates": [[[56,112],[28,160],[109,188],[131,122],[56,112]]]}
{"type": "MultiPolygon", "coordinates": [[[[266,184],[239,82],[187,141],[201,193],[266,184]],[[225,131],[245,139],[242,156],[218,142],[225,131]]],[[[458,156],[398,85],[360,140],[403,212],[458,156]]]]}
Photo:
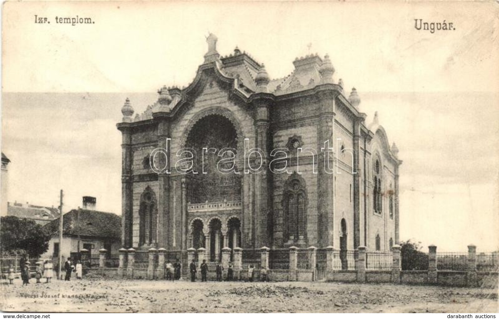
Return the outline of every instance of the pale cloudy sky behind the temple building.
{"type": "Polygon", "coordinates": [[[329,54],[360,109],[400,149],[401,240],[439,251],[498,249],[499,19],[494,3],[6,2],[2,141],[10,202],[81,197],[121,213],[121,106],[136,112],[162,85],[188,85],[218,37],[288,75],[296,57],[329,54]],[[34,23],[34,15],[50,24],[34,23]],[[58,24],[55,16],[93,24],[58,24]],[[453,22],[416,30],[414,19],[453,22]]]}

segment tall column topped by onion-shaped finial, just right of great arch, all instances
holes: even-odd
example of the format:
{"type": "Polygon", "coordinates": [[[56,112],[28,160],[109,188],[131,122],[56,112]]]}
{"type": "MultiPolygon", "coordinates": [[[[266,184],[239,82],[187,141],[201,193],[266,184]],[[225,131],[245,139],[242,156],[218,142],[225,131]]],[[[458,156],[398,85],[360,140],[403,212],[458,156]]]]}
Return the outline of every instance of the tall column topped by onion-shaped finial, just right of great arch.
{"type": "MultiPolygon", "coordinates": [[[[257,92],[253,94],[253,108],[254,108],[254,125],[255,125],[255,146],[263,152],[261,161],[261,170],[254,175],[254,212],[256,216],[254,221],[254,247],[270,246],[270,234],[267,230],[267,214],[271,214],[271,199],[268,196],[268,156],[270,143],[270,115],[269,110],[273,104],[273,95],[267,93],[266,85],[269,82],[268,74],[262,67],[255,76],[255,83],[257,85],[257,92]]],[[[246,150],[245,150],[246,151],[246,150]]],[[[250,159],[248,159],[250,160],[250,159]]],[[[259,158],[252,164],[256,166],[259,158]]]]}

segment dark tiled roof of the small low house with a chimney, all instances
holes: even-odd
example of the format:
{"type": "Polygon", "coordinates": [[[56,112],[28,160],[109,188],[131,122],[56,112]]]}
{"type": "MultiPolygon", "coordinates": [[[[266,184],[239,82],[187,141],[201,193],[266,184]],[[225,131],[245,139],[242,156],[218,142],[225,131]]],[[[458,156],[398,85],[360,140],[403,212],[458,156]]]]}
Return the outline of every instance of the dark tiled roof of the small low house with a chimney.
{"type": "MultiPolygon", "coordinates": [[[[51,232],[59,229],[59,219],[45,225],[51,232]]],[[[121,238],[121,216],[113,213],[73,209],[62,219],[64,235],[121,238]]]]}

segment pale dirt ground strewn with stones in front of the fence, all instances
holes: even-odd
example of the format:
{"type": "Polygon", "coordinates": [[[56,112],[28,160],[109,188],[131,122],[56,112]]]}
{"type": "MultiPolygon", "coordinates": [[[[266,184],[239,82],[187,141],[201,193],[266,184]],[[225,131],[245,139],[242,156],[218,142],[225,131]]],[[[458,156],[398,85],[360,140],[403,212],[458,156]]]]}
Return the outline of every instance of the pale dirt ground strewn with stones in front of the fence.
{"type": "Polygon", "coordinates": [[[387,284],[83,279],[1,285],[2,311],[161,313],[495,313],[493,289],[387,284]]]}

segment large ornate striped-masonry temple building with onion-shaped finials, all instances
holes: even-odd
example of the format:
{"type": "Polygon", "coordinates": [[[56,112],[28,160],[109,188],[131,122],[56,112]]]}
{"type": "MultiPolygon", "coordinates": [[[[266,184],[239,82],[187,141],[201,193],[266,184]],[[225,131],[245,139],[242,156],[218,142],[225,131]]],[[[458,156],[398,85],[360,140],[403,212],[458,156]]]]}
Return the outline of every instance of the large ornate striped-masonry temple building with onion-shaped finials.
{"type": "Polygon", "coordinates": [[[270,80],[246,52],[222,57],[207,42],[190,85],[161,88],[140,115],[122,108],[123,247],[204,247],[215,261],[224,247],[398,244],[398,149],[377,114],[365,124],[329,57],[297,58],[270,80]]]}

